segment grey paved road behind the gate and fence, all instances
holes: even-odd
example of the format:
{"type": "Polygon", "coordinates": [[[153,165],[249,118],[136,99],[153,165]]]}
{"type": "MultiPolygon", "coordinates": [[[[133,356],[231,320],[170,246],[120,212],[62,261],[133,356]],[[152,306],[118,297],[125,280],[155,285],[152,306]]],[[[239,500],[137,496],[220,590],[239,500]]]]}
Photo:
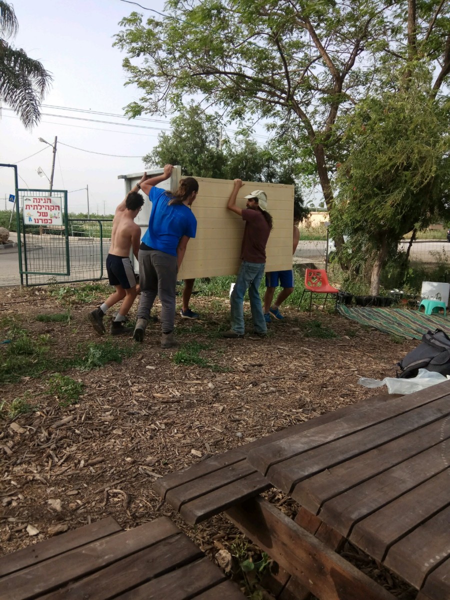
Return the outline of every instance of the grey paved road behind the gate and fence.
{"type": "MultiPolygon", "coordinates": [[[[11,233],[11,239],[15,239],[11,233]]],[[[29,248],[29,266],[35,271],[50,271],[46,266],[50,256],[58,256],[58,269],[65,270],[65,247],[60,238],[58,244],[50,247],[48,239],[40,242],[38,236],[29,248]]],[[[53,238],[56,236],[43,236],[44,238],[53,238]]],[[[402,242],[400,249],[406,251],[408,242],[402,242]]],[[[103,242],[103,260],[109,248],[109,240],[103,242]]],[[[295,251],[296,262],[324,262],[325,261],[325,241],[300,241],[295,251]]],[[[446,257],[450,262],[450,243],[447,241],[416,242],[411,249],[411,258],[413,260],[422,260],[424,262],[437,262],[438,256],[446,257]]],[[[74,279],[88,279],[100,277],[100,244],[97,239],[70,238],[70,277],[55,276],[56,280],[64,282],[74,279]]],[[[52,268],[52,272],[56,269],[52,268]]],[[[104,269],[106,272],[106,269],[104,269]]],[[[30,283],[43,283],[48,281],[51,275],[31,275],[30,283]]],[[[14,286],[20,284],[19,261],[17,248],[0,251],[0,286],[14,286]]]]}

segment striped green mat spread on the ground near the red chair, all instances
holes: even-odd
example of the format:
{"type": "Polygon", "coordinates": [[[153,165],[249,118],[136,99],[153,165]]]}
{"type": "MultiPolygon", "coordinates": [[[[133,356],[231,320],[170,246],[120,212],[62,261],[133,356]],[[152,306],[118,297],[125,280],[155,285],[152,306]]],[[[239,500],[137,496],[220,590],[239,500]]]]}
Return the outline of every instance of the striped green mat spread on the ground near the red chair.
{"type": "Polygon", "coordinates": [[[345,304],[338,304],[338,312],[361,325],[404,338],[421,340],[422,335],[434,329],[442,329],[450,336],[450,319],[443,314],[419,313],[407,308],[349,307],[345,304]]]}

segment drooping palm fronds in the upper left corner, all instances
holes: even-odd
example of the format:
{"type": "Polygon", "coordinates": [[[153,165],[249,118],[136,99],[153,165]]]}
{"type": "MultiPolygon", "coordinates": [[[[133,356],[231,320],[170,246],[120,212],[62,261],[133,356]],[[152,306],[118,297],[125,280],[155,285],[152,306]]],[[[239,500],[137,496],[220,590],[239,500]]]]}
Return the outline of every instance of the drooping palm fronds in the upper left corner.
{"type": "Polygon", "coordinates": [[[31,129],[40,121],[40,103],[52,76],[39,61],[8,43],[8,38],[16,35],[18,27],[13,6],[0,0],[0,100],[19,115],[26,128],[31,129]]]}

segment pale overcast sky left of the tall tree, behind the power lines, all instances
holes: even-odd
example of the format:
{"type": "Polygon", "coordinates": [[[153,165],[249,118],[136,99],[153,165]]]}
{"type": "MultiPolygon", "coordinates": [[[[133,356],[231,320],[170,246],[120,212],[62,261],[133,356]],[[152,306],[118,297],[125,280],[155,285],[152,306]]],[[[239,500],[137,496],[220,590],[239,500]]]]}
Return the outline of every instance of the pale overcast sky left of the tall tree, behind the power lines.
{"type": "MultiPolygon", "coordinates": [[[[140,4],[163,10],[161,0],[140,4]]],[[[52,88],[44,100],[43,116],[31,133],[25,130],[15,113],[2,107],[0,116],[0,163],[18,163],[19,187],[48,188],[38,167],[50,178],[52,148],[38,141],[42,137],[53,143],[58,136],[53,188],[68,191],[89,186],[91,212],[112,212],[124,196],[124,181],[117,176],[143,170],[141,157],[157,142],[160,122],[127,121],[106,115],[61,110],[54,107],[83,109],[123,115],[124,106],[139,98],[134,86],[124,86],[122,70],[124,56],[112,47],[119,20],[134,9],[120,0],[20,0],[13,3],[19,32],[14,45],[22,47],[28,56],[38,59],[53,74],[52,88]],[[49,106],[52,106],[50,108],[49,106]],[[140,124],[142,127],[121,127],[118,124],[98,124],[79,119],[140,124]],[[153,127],[154,129],[146,129],[153,127]],[[92,152],[132,156],[115,158],[89,154],[63,144],[92,152]]],[[[161,119],[157,117],[157,119],[161,119]]],[[[14,193],[13,169],[0,169],[0,208],[5,208],[5,194],[14,193]]],[[[11,206],[7,203],[8,208],[11,206]]],[[[86,190],[68,194],[70,211],[86,211],[86,190]]]]}

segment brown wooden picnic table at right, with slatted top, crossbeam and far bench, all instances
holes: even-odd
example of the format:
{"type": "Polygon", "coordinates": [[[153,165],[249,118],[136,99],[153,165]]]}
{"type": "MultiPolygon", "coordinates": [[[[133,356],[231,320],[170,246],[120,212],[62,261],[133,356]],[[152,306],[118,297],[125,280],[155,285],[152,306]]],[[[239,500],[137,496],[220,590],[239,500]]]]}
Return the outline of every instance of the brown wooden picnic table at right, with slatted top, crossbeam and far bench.
{"type": "Polygon", "coordinates": [[[282,568],[279,600],[394,600],[339,554],[347,539],[414,586],[417,600],[450,600],[449,438],[444,382],[326,413],[170,473],[155,489],[190,524],[223,512],[282,568]],[[271,487],[301,505],[295,520],[260,495],[271,487]]]}

